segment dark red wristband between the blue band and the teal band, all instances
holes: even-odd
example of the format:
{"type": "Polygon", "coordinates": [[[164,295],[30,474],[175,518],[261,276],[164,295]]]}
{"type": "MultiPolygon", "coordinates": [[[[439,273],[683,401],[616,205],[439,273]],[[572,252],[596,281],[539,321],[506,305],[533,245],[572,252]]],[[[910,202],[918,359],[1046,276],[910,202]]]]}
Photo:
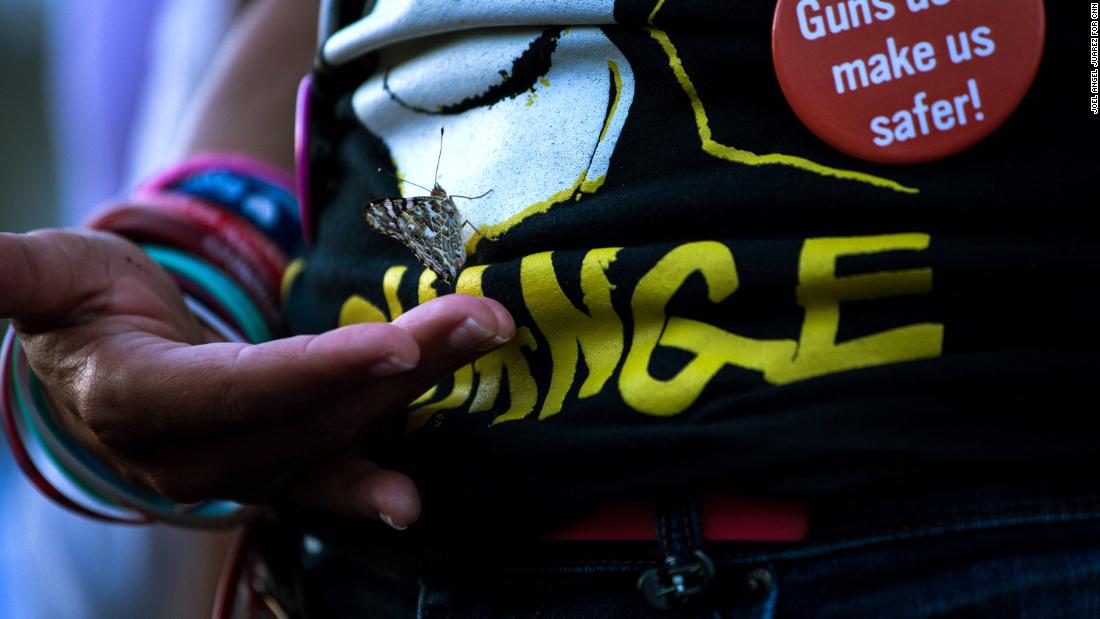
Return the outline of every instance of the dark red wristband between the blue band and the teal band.
{"type": "MultiPolygon", "coordinates": [[[[199,205],[196,208],[208,207],[199,205]]],[[[88,226],[116,232],[139,243],[169,245],[200,256],[237,280],[260,308],[268,324],[277,329],[282,323],[278,292],[271,287],[271,277],[276,276],[271,269],[277,268],[277,265],[270,265],[266,276],[260,275],[266,263],[260,262],[255,253],[248,251],[248,246],[231,243],[220,231],[196,223],[185,212],[175,212],[170,207],[118,205],[96,214],[88,226]]],[[[266,242],[263,239],[255,241],[266,242]]],[[[277,277],[282,277],[280,272],[277,277]]]]}

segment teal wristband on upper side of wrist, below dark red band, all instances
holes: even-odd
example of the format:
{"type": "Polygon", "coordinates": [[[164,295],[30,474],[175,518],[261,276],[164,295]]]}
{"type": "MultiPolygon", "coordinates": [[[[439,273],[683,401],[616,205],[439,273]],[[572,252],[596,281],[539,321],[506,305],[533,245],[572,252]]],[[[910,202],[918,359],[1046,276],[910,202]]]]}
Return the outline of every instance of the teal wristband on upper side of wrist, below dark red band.
{"type": "Polygon", "coordinates": [[[185,277],[210,294],[244,331],[253,344],[272,339],[272,331],[260,308],[228,275],[210,263],[179,250],[162,245],[142,245],[154,262],[169,273],[185,277]]]}

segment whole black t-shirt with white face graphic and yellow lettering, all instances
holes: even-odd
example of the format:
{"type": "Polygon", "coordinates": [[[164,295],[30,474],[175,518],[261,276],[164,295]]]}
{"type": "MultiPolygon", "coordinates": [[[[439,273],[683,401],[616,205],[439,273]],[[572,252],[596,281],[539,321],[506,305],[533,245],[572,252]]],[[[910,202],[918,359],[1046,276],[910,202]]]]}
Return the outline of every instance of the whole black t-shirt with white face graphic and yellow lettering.
{"type": "Polygon", "coordinates": [[[287,300],[309,333],[454,291],[363,218],[426,194],[375,170],[430,186],[446,126],[440,185],[493,189],[457,200],[494,239],[465,231],[457,289],[518,333],[364,446],[417,479],[427,518],[1100,472],[1080,7],[1047,2],[1038,76],[999,131],[886,166],[795,118],[774,1],[432,4],[336,18],[317,240],[287,300]]]}

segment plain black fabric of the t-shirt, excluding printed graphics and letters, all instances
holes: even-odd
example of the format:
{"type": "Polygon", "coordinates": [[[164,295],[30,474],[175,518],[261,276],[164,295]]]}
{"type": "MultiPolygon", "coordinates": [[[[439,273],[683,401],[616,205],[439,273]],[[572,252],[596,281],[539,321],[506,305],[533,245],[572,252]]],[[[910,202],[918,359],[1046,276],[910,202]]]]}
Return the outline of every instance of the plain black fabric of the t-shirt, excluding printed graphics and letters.
{"type": "MultiPolygon", "coordinates": [[[[1100,244],[1096,136],[1081,71],[1080,7],[1047,2],[1048,32],[1034,87],[992,136],[949,158],[882,166],[848,157],[811,134],[776,81],[770,55],[774,2],[669,2],[654,20],[706,102],[714,140],[752,153],[787,153],[916,188],[906,194],[783,165],[736,165],[701,148],[698,129],[669,57],[645,29],[651,2],[618,2],[604,33],[638,79],[606,181],[591,195],[528,218],[468,265],[490,265],[486,296],[532,325],[522,299],[525,256],[553,251],[572,305],[585,307],[585,254],[623,247],[606,269],[625,349],[608,384],[580,398],[585,356],[561,412],[538,420],[551,346],[534,330],[524,349],[539,401],[524,419],[493,424],[509,406],[504,378],[487,412],[463,407],[395,432],[370,453],[409,472],[425,521],[442,530],[541,530],[612,500],[723,488],[800,498],[866,495],[906,485],[1047,478],[1094,483],[1093,358],[1100,244]],[[1090,192],[1092,197],[1090,198],[1090,192]],[[684,411],[639,413],[617,388],[634,342],[631,296],[653,266],[685,243],[715,241],[736,263],[739,286],[719,302],[695,273],[666,310],[758,340],[800,341],[800,255],[807,239],[925,234],[920,251],[838,258],[837,276],[931,269],[926,294],[842,301],[837,342],[914,324],[942,324],[942,354],[776,384],[725,365],[684,411]]],[[[356,65],[362,70],[363,65],[356,65]]],[[[344,69],[318,76],[314,197],[318,242],[287,302],[297,332],[337,324],[360,295],[380,308],[378,284],[408,265],[399,299],[417,301],[422,270],[399,243],[363,221],[369,200],[397,195],[382,142],[352,118],[344,69]]],[[[507,93],[502,96],[509,96],[507,93]]],[[[437,283],[440,294],[450,288],[437,283]]],[[[649,373],[671,378],[693,355],[658,346],[649,373]]],[[[476,391],[476,382],[473,391],[476,391]]],[[[446,395],[450,385],[440,387],[446,395]]],[[[438,398],[437,398],[438,399],[438,398]]],[[[396,424],[403,425],[404,418],[396,424]]]]}

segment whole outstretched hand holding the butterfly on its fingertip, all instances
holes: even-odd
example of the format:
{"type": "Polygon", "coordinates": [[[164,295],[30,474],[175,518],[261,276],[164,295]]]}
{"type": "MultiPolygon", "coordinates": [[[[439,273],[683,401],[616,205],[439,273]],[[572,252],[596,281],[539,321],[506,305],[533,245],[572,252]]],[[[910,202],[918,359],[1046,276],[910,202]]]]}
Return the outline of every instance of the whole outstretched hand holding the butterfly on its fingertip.
{"type": "Polygon", "coordinates": [[[217,342],[136,245],[90,231],[0,233],[0,281],[57,421],[122,478],[397,528],[419,517],[416,485],[358,439],[515,333],[498,302],[451,295],[393,323],[217,342]]]}

